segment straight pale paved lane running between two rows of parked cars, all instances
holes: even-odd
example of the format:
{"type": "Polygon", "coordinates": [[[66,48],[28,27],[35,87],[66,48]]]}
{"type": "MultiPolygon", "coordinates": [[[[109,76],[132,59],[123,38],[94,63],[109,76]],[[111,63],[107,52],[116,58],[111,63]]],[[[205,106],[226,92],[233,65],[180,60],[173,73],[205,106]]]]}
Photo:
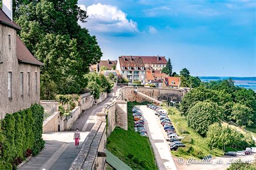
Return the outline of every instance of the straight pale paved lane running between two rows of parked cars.
{"type": "Polygon", "coordinates": [[[149,134],[150,143],[156,156],[158,168],[177,169],[164,134],[160,129],[160,124],[154,115],[154,111],[147,108],[146,105],[138,105],[137,107],[143,112],[143,117],[147,124],[147,133],[149,134]]]}

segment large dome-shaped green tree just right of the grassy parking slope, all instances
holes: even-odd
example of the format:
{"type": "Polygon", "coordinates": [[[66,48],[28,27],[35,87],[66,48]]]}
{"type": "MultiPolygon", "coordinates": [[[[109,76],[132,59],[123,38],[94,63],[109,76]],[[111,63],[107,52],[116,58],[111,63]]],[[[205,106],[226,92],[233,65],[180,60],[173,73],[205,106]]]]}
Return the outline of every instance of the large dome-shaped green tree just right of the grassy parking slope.
{"type": "Polygon", "coordinates": [[[220,122],[218,109],[209,102],[196,103],[187,114],[187,124],[202,136],[205,136],[211,124],[220,122]]]}

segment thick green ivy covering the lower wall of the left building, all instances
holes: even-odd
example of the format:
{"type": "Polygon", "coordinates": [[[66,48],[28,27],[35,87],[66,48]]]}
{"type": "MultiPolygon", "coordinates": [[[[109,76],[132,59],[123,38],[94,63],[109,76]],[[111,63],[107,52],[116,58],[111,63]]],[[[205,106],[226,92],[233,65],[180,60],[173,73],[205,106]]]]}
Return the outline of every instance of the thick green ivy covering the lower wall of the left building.
{"type": "Polygon", "coordinates": [[[0,169],[16,168],[31,153],[36,155],[44,148],[44,109],[39,104],[6,114],[0,121],[0,169]]]}

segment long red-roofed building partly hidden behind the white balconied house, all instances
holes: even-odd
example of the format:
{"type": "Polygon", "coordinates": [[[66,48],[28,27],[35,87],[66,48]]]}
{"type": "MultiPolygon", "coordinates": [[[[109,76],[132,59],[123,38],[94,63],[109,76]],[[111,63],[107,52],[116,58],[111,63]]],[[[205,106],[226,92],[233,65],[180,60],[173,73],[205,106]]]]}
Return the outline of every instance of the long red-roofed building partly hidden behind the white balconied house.
{"type": "MultiPolygon", "coordinates": [[[[121,57],[130,57],[130,56],[121,56],[121,57]]],[[[167,60],[165,56],[131,56],[132,58],[142,58],[145,67],[152,67],[154,70],[161,70],[163,69],[166,64],[167,60]]]]}

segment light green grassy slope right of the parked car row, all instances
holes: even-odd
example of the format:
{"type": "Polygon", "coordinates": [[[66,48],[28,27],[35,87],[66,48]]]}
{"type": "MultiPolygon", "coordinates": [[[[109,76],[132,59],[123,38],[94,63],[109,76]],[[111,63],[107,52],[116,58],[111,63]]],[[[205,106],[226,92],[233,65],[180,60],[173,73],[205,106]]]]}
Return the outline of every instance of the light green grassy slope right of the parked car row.
{"type": "Polygon", "coordinates": [[[209,154],[213,156],[223,155],[223,152],[219,149],[211,151],[210,148],[207,147],[205,139],[195,130],[187,126],[185,117],[180,116],[176,108],[169,108],[169,117],[179,136],[185,137],[181,141],[186,145],[186,147],[178,148],[177,151],[172,151],[172,155],[185,159],[191,157],[201,159],[209,154]]]}

